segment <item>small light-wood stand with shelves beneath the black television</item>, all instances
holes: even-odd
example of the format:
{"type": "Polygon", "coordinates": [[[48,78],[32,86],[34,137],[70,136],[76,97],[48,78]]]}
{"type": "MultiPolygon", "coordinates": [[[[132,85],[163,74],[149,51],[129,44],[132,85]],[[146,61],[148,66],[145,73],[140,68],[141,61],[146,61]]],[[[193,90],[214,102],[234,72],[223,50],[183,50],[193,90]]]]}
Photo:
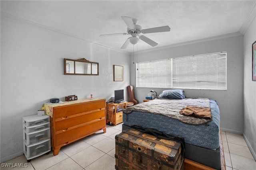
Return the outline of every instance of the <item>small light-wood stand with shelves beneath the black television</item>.
{"type": "Polygon", "coordinates": [[[106,116],[107,121],[111,122],[113,125],[117,125],[123,122],[123,109],[126,108],[128,102],[122,103],[108,103],[106,104],[106,116]]]}

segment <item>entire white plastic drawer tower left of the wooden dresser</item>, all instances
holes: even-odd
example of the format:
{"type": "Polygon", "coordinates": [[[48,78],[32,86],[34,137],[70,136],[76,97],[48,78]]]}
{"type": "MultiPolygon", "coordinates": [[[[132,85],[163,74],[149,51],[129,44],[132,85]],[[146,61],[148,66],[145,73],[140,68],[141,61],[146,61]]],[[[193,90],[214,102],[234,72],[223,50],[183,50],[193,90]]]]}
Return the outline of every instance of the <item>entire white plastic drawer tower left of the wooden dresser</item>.
{"type": "Polygon", "coordinates": [[[22,117],[23,152],[28,162],[51,151],[50,117],[31,115],[22,117]]]}

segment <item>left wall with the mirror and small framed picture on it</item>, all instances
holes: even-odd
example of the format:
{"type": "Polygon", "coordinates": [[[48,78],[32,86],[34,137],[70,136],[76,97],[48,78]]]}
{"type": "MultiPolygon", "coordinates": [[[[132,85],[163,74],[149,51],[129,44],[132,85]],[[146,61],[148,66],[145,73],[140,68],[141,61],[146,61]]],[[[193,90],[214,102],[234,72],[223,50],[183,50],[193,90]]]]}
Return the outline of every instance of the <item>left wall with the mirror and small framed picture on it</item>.
{"type": "Polygon", "coordinates": [[[50,98],[93,94],[109,100],[130,84],[129,62],[128,54],[1,18],[1,162],[23,154],[23,116],[37,114],[50,98]],[[98,62],[99,75],[64,75],[64,58],[98,62]],[[124,66],[123,82],[114,82],[114,64],[124,66]]]}

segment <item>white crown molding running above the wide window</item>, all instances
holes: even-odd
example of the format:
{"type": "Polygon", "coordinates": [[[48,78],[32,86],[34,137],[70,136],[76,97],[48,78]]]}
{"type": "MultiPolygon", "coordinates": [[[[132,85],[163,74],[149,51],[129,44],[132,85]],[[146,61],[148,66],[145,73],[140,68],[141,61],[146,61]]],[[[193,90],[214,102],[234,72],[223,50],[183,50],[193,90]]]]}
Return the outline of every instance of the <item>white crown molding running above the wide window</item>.
{"type": "MultiPolygon", "coordinates": [[[[156,47],[154,49],[141,50],[141,51],[138,51],[138,54],[157,51],[157,50],[163,50],[163,49],[169,49],[169,48],[179,47],[179,46],[184,46],[184,45],[190,45],[190,44],[195,44],[195,43],[202,43],[202,42],[206,42],[206,41],[213,41],[213,40],[218,40],[218,39],[238,37],[238,36],[242,36],[242,33],[240,33],[240,32],[229,33],[229,34],[225,34],[225,35],[218,35],[218,36],[209,37],[209,38],[203,38],[203,39],[198,39],[198,40],[193,40],[193,41],[186,41],[186,42],[182,42],[182,43],[176,43],[176,44],[172,44],[172,45],[166,45],[166,46],[163,46],[163,47],[156,47]]],[[[132,53],[130,53],[130,55],[132,55],[132,53]]]]}

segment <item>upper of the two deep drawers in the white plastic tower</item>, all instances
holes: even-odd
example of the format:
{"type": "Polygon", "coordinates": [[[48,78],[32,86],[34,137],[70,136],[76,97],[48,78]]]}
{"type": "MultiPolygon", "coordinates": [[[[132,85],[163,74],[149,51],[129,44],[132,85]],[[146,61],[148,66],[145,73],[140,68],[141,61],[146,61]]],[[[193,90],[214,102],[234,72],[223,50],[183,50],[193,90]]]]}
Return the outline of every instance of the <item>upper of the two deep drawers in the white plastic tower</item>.
{"type": "Polygon", "coordinates": [[[50,139],[51,131],[50,127],[47,129],[43,129],[41,131],[36,131],[32,133],[23,133],[23,139],[26,145],[32,145],[34,143],[39,143],[41,141],[45,141],[46,139],[50,139]]]}

